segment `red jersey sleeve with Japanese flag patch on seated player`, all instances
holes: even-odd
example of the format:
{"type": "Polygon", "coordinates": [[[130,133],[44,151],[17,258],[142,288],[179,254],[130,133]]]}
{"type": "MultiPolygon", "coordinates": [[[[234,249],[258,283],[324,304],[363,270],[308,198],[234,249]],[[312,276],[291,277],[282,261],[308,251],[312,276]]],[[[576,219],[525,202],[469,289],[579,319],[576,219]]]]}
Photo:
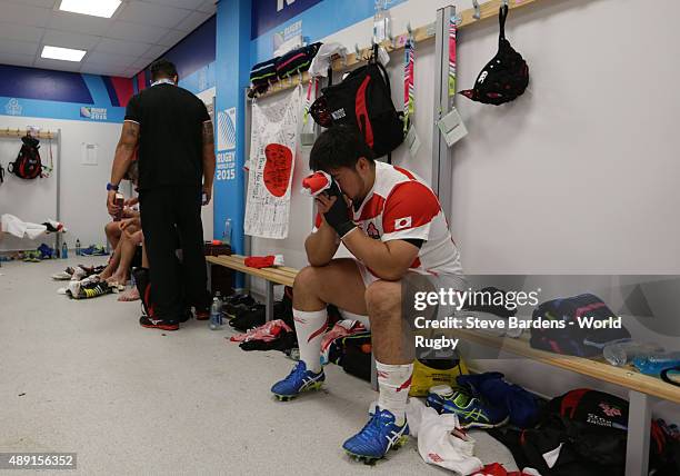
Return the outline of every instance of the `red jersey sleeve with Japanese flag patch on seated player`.
{"type": "Polygon", "coordinates": [[[407,181],[390,192],[382,215],[383,238],[427,239],[429,225],[441,207],[437,196],[426,185],[407,181]]]}

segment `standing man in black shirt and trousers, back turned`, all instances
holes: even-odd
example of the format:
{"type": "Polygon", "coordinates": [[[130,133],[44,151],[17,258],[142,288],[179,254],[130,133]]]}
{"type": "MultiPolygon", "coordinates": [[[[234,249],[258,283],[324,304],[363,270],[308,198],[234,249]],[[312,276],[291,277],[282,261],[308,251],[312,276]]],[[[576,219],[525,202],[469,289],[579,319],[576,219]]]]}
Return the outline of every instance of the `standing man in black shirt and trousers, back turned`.
{"type": "Polygon", "coordinates": [[[151,79],[151,88],[128,103],[107,206],[116,212],[116,190],[139,147],[139,202],[154,304],[153,315],[140,324],[177,330],[187,306],[194,306],[204,318],[210,305],[201,204],[208,205],[212,196],[214,138],[206,105],[177,86],[174,65],[156,61],[151,79]],[[178,236],[181,269],[176,258],[178,236]]]}

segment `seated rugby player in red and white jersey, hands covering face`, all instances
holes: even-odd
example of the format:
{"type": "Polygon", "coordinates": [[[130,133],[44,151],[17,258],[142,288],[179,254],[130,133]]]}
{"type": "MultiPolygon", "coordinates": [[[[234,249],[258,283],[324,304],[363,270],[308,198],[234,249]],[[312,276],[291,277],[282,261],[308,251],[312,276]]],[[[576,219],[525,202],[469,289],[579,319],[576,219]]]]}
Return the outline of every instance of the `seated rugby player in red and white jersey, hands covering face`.
{"type": "Polygon", "coordinates": [[[404,410],[414,345],[401,319],[402,280],[421,275],[433,287],[463,289],[460,254],[430,187],[406,169],[377,162],[356,129],[324,131],[312,148],[310,168],[329,173],[333,185],[316,198],[319,215],[304,242],[310,266],[293,287],[300,361],[271,391],[288,400],[321,387],[327,305],[361,320],[372,333],[380,397],[369,423],[343,448],[371,462],[401,446],[409,434],[404,410]],[[333,259],[341,241],[353,259],[333,259]]]}

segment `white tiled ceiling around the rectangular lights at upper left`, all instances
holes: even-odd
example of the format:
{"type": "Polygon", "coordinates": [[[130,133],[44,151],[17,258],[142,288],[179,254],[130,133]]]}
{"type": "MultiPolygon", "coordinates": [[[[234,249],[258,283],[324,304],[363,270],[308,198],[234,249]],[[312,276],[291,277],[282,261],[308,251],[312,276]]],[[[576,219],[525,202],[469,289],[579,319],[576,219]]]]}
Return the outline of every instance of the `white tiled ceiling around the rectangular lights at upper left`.
{"type": "Polygon", "coordinates": [[[0,65],[130,78],[213,16],[216,1],[123,0],[107,19],[59,11],[61,0],[0,0],[0,65]],[[44,44],[88,53],[48,60],[44,44]]]}

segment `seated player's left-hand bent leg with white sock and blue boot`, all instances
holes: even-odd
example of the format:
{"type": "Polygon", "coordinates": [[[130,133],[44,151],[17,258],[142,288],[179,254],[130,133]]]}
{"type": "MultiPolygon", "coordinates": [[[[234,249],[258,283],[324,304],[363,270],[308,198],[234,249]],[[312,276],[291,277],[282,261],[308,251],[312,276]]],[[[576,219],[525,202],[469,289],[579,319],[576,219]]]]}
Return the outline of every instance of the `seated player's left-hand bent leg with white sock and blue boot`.
{"type": "Polygon", "coordinates": [[[301,391],[318,389],[323,381],[321,339],[326,333],[326,306],[333,304],[357,315],[366,315],[366,287],[353,259],[333,259],[328,266],[303,268],[293,285],[293,318],[300,347],[300,361],[286,379],[272,387],[279,398],[289,399],[301,391]]]}

